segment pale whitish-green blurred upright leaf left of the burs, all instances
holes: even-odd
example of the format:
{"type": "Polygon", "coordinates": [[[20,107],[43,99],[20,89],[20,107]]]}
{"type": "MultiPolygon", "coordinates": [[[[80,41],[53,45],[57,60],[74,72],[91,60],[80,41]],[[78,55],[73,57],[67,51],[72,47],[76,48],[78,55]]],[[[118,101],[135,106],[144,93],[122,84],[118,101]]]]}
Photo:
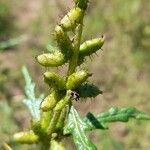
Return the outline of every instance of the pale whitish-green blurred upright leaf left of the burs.
{"type": "Polygon", "coordinates": [[[28,109],[31,112],[31,115],[34,119],[39,120],[40,119],[40,104],[42,102],[42,99],[44,98],[44,95],[41,94],[38,98],[35,97],[35,84],[32,82],[32,79],[29,75],[29,72],[27,68],[24,66],[22,68],[22,73],[25,78],[25,95],[26,98],[23,100],[23,102],[26,104],[28,109]]]}

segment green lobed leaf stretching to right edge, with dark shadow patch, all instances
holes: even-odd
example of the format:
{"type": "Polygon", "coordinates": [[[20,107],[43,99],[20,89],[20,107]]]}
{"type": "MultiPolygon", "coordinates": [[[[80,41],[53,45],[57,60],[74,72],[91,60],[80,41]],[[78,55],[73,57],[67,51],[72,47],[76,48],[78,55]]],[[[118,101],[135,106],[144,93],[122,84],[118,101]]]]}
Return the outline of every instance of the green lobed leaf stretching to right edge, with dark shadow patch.
{"type": "Polygon", "coordinates": [[[130,118],[134,118],[137,120],[150,120],[150,115],[147,115],[134,107],[112,107],[107,112],[101,113],[97,117],[94,117],[93,114],[88,113],[86,118],[84,119],[84,123],[86,124],[84,126],[84,130],[87,131],[92,129],[108,129],[107,123],[109,122],[128,122],[130,118]],[[103,128],[100,128],[98,124],[103,128]]]}

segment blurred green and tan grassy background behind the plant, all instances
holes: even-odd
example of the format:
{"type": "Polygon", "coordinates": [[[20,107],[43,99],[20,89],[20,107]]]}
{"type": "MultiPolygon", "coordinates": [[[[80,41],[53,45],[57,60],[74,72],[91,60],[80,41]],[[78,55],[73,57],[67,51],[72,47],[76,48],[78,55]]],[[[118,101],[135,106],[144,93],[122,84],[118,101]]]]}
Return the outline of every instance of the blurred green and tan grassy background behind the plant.
{"type": "MultiPolygon", "coordinates": [[[[94,74],[91,82],[103,95],[74,102],[76,109],[85,116],[88,111],[96,115],[112,106],[135,106],[150,114],[150,1],[90,1],[83,41],[102,34],[106,41],[103,51],[93,55],[84,67],[94,74]]],[[[0,144],[8,142],[14,150],[36,149],[35,145],[9,142],[13,133],[29,128],[31,119],[22,103],[21,67],[28,67],[37,94],[46,95],[42,80],[46,69],[38,65],[35,56],[53,43],[55,25],[72,6],[71,0],[0,0],[0,144]]],[[[109,127],[108,131],[89,134],[98,150],[150,148],[150,122],[131,120],[109,127]]]]}

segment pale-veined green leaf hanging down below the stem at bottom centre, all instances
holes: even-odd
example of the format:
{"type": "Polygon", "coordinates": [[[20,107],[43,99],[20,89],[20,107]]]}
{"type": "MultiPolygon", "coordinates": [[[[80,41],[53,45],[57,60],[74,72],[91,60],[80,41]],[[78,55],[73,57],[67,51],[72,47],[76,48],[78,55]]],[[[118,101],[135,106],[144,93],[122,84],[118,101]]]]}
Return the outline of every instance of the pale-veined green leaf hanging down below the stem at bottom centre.
{"type": "Polygon", "coordinates": [[[64,128],[64,134],[72,134],[77,150],[96,150],[97,148],[87,138],[84,132],[85,126],[86,124],[82,121],[79,114],[72,106],[68,117],[68,123],[64,128]]]}

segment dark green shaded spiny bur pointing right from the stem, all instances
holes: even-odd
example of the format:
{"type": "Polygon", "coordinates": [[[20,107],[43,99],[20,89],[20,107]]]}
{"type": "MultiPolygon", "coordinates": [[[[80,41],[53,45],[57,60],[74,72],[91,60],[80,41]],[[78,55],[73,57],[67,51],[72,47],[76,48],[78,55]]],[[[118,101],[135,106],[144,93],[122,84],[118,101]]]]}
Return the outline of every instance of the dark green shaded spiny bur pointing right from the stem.
{"type": "Polygon", "coordinates": [[[98,87],[89,83],[79,86],[75,91],[82,98],[87,98],[87,97],[91,98],[91,97],[96,97],[99,94],[102,94],[102,91],[99,90],[98,87]]]}

